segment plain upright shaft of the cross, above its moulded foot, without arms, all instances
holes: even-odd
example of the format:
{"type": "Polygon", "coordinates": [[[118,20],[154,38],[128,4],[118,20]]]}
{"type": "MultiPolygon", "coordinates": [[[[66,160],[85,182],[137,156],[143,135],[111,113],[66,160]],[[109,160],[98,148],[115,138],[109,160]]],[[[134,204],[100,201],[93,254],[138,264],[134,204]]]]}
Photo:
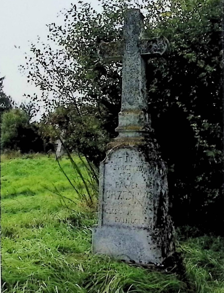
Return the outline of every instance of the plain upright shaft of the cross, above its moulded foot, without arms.
{"type": "Polygon", "coordinates": [[[124,22],[125,51],[123,56],[122,111],[146,109],[145,68],[139,40],[143,36],[143,15],[127,10],[124,22]]]}

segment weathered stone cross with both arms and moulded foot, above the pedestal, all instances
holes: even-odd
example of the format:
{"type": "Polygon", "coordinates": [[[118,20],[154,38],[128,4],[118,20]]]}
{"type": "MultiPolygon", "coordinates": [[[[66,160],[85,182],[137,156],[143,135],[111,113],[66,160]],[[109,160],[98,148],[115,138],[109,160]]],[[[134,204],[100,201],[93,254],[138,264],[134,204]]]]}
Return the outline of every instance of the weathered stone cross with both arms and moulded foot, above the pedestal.
{"type": "MultiPolygon", "coordinates": [[[[137,9],[126,11],[123,42],[101,43],[98,55],[104,61],[121,61],[122,106],[119,113],[120,136],[123,132],[140,132],[150,127],[147,115],[145,59],[162,55],[167,47],[166,38],[144,39],[143,15],[137,9]]],[[[129,134],[130,135],[130,134],[129,134]]]]}

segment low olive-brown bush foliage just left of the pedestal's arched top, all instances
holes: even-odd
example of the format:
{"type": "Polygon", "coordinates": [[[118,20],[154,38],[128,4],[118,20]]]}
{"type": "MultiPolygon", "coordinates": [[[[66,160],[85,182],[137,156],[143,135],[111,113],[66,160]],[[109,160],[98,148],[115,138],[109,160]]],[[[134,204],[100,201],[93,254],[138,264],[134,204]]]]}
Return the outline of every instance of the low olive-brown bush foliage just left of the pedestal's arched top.
{"type": "Polygon", "coordinates": [[[101,118],[104,109],[83,105],[76,109],[70,103],[67,107],[58,106],[40,123],[39,132],[45,140],[52,142],[64,133],[64,144],[68,152],[76,151],[85,155],[96,166],[103,159],[106,143],[109,142],[110,119],[101,118]]]}

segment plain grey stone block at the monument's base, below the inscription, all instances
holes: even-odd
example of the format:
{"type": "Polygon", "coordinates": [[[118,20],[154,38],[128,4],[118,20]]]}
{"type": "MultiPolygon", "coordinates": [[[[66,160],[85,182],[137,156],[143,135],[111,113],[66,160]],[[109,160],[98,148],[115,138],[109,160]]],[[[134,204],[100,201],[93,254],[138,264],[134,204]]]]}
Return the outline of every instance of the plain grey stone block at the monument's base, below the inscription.
{"type": "Polygon", "coordinates": [[[139,264],[162,263],[161,250],[153,244],[146,229],[131,227],[93,228],[92,249],[95,253],[105,254],[118,260],[134,261],[139,264]]]}

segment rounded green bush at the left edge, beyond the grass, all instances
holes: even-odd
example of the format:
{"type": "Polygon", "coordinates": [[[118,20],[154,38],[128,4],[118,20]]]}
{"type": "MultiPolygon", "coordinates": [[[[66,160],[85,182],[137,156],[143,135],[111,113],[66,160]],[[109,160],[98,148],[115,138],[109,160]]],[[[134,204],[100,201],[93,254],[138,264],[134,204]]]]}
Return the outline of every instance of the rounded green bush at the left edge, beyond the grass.
{"type": "Polygon", "coordinates": [[[1,121],[1,149],[38,152],[43,150],[35,124],[24,110],[15,108],[4,112],[1,121]]]}

